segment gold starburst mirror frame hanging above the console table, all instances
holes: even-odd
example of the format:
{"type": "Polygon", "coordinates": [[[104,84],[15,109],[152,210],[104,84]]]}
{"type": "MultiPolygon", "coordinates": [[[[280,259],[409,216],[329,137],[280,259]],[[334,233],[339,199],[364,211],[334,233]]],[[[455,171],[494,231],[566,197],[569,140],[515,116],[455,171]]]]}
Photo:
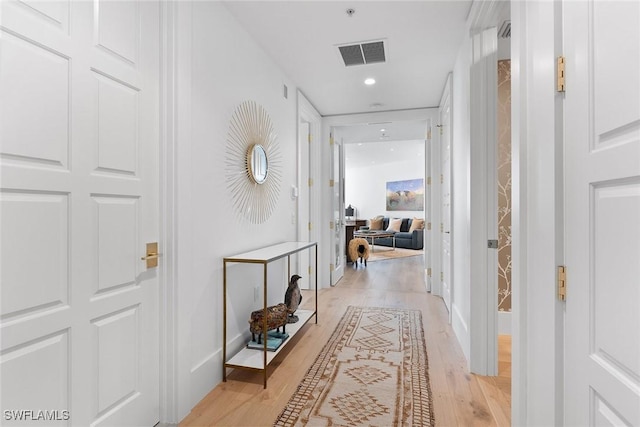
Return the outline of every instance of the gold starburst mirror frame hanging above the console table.
{"type": "Polygon", "coordinates": [[[225,157],[226,184],[235,209],[254,224],[273,213],[282,181],[281,155],[269,113],[244,101],[231,117],[225,157]],[[266,158],[256,165],[256,156],[266,158]],[[259,166],[260,176],[255,168],[259,166]]]}

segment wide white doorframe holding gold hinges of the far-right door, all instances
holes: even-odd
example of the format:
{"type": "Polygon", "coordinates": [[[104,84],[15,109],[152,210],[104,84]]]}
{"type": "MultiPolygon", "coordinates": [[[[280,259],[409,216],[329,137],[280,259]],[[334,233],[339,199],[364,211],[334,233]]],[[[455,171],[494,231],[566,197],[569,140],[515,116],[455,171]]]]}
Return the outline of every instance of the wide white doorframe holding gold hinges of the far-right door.
{"type": "Polygon", "coordinates": [[[564,256],[563,117],[553,83],[562,7],[511,2],[513,425],[564,423],[564,307],[555,297],[564,256]]]}

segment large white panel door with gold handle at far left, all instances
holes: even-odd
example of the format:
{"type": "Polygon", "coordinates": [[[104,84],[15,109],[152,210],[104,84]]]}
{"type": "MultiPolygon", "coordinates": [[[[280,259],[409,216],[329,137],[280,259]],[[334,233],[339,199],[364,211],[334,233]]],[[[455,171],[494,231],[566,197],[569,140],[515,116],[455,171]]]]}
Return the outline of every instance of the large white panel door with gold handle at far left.
{"type": "Polygon", "coordinates": [[[158,4],[0,7],[3,425],[152,426],[158,4]]]}

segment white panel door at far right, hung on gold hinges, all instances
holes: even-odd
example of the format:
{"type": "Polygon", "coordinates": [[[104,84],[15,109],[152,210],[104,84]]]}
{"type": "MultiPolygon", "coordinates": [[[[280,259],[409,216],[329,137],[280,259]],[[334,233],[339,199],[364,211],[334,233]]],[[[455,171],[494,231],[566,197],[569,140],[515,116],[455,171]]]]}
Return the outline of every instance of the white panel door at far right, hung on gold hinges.
{"type": "Polygon", "coordinates": [[[565,425],[640,425],[640,3],[564,2],[565,425]]]}

